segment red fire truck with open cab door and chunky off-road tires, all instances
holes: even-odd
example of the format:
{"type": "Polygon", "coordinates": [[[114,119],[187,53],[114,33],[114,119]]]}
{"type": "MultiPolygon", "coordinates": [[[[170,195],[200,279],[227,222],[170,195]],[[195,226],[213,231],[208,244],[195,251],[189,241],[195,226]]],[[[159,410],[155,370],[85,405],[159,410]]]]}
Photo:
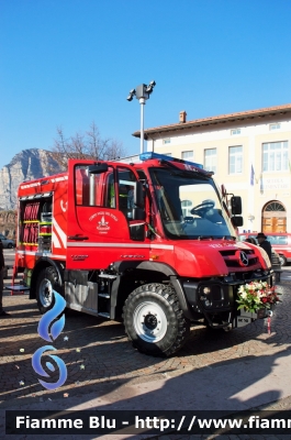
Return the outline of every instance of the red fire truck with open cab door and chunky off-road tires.
{"type": "Polygon", "coordinates": [[[259,248],[236,241],[240,198],[227,201],[212,175],[144,153],[137,164],[70,160],[67,173],[22,183],[14,277],[24,273],[41,312],[58,292],[67,308],[122,318],[153,355],[177,352],[194,322],[248,323],[237,289],[271,285],[271,271],[259,248]]]}

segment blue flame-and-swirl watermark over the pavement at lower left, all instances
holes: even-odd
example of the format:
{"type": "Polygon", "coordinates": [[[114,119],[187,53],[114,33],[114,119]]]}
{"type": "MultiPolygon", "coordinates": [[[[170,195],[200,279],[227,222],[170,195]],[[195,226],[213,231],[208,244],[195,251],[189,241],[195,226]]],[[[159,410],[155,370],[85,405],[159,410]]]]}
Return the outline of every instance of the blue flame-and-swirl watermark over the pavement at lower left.
{"type": "MultiPolygon", "coordinates": [[[[53,294],[55,296],[55,304],[54,307],[48,310],[40,320],[38,327],[37,327],[37,332],[42,339],[45,341],[52,342],[58,338],[60,334],[61,330],[64,329],[65,326],[65,315],[63,311],[65,310],[66,307],[66,300],[63,298],[61,295],[59,295],[57,292],[53,290],[53,294]],[[60,314],[63,314],[60,316],[60,314]],[[51,333],[51,334],[49,334],[51,333]]],[[[41,376],[44,377],[49,377],[49,374],[47,374],[41,363],[42,355],[45,351],[52,351],[56,350],[53,345],[45,345],[41,346],[35,351],[35,353],[32,356],[32,366],[35,373],[40,374],[41,376]]],[[[38,382],[43,385],[44,388],[47,389],[56,389],[59,386],[64,385],[64,383],[67,380],[67,367],[65,365],[65,362],[59,359],[58,356],[55,356],[53,354],[48,355],[51,359],[55,361],[55,363],[58,366],[59,370],[59,378],[57,382],[45,382],[38,378],[38,382]]],[[[55,366],[52,364],[52,362],[46,362],[46,367],[55,372],[55,366]]]]}

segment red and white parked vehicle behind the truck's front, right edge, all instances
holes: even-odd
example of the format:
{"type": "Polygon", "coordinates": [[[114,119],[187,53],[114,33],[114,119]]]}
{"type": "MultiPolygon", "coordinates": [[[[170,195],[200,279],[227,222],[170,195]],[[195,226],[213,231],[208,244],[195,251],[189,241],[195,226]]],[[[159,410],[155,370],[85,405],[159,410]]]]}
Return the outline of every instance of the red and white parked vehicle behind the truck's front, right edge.
{"type": "MultiPolygon", "coordinates": [[[[245,241],[247,238],[256,240],[257,232],[243,232],[237,235],[237,240],[245,241]]],[[[271,243],[272,250],[277,252],[281,266],[291,262],[291,234],[287,232],[265,232],[267,240],[271,243]]],[[[257,240],[256,240],[257,241],[257,240]]]]}

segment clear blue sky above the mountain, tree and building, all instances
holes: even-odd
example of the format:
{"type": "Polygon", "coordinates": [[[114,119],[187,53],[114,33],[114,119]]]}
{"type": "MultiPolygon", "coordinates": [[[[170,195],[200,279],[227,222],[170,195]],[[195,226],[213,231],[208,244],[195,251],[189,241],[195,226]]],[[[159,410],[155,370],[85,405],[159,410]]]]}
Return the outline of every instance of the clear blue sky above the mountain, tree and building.
{"type": "Polygon", "coordinates": [[[139,151],[145,128],[291,102],[289,0],[0,0],[0,168],[92,121],[139,151]]]}

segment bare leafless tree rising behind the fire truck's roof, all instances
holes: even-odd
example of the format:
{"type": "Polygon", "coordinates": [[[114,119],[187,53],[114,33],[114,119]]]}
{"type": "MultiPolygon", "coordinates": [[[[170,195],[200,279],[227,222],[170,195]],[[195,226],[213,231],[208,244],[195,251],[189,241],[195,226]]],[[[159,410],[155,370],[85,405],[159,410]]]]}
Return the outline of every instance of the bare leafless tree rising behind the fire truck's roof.
{"type": "Polygon", "coordinates": [[[92,122],[90,130],[85,134],[76,133],[68,139],[65,138],[63,129],[58,127],[52,153],[61,169],[66,170],[69,158],[113,161],[125,156],[126,152],[121,142],[101,139],[98,127],[92,122]]]}

